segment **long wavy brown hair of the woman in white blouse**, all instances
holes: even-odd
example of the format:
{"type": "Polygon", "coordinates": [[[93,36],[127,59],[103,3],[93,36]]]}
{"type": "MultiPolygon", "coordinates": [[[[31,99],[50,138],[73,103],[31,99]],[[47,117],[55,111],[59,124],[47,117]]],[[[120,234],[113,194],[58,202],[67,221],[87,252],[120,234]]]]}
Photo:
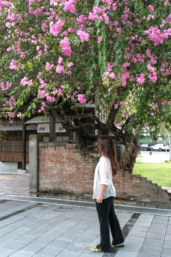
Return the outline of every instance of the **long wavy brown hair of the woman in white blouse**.
{"type": "Polygon", "coordinates": [[[112,176],[116,175],[119,170],[119,164],[117,162],[117,154],[115,150],[115,144],[109,136],[101,136],[98,141],[98,153],[102,156],[109,158],[112,168],[112,176]]]}

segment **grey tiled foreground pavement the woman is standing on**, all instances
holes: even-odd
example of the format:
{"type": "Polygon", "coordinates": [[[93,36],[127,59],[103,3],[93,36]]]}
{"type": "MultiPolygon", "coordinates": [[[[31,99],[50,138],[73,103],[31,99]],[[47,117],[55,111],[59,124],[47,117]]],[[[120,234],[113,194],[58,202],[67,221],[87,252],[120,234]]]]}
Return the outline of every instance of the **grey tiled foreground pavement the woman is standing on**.
{"type": "Polygon", "coordinates": [[[90,247],[100,242],[94,207],[0,201],[1,257],[171,257],[171,215],[116,209],[125,246],[92,253],[90,247]]]}

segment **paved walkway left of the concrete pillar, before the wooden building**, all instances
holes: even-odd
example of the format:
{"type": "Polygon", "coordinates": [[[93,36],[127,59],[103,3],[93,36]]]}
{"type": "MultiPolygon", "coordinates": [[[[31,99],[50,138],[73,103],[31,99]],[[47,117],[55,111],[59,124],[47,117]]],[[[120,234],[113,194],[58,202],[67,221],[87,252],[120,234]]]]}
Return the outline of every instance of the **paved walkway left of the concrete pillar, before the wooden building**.
{"type": "Polygon", "coordinates": [[[29,192],[29,175],[17,176],[0,181],[0,194],[27,196],[29,192]]]}

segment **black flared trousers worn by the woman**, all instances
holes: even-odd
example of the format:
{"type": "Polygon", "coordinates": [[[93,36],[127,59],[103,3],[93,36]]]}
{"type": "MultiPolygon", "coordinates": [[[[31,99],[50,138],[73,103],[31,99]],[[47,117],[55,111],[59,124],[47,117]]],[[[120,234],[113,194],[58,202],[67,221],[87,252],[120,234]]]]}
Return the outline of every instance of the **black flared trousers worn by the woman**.
{"type": "Polygon", "coordinates": [[[102,200],[102,203],[97,203],[95,200],[96,210],[100,223],[100,244],[101,251],[107,252],[111,250],[110,231],[112,234],[112,244],[121,244],[124,242],[119,220],[115,214],[115,208],[113,204],[113,196],[109,196],[102,200]]]}

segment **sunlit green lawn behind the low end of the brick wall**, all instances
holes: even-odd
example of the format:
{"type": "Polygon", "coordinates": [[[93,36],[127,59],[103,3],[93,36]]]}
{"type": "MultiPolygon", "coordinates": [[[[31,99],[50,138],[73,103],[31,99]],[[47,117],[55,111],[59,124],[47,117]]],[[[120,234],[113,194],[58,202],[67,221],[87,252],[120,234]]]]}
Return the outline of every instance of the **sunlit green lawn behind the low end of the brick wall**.
{"type": "Polygon", "coordinates": [[[143,163],[141,159],[136,160],[133,168],[133,174],[141,174],[142,177],[147,177],[158,186],[171,186],[171,161],[165,163],[143,163]]]}

